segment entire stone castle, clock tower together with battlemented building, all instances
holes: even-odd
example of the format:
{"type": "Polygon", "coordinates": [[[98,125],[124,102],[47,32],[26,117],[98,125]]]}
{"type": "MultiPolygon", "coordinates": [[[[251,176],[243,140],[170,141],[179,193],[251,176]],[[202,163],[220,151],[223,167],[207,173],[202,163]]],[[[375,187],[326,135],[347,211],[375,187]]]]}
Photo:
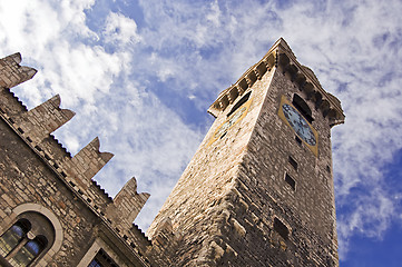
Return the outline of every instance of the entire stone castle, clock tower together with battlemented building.
{"type": "Polygon", "coordinates": [[[216,117],[147,231],[135,178],[111,199],[91,178],[112,157],[51,136],[58,96],[10,91],[36,70],[0,60],[0,265],[337,266],[331,128],[340,101],[280,39],[209,107],[216,117]]]}

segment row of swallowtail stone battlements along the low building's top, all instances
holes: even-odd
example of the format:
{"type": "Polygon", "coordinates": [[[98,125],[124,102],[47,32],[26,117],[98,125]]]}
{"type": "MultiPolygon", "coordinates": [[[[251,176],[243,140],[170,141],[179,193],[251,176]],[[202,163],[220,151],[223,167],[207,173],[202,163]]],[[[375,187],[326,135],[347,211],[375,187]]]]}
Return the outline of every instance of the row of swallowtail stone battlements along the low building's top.
{"type": "Polygon", "coordinates": [[[27,146],[62,180],[77,198],[98,214],[129,246],[146,249],[150,241],[133,224],[145,202],[147,192],[137,192],[137,181],[131,178],[112,199],[92,177],[114,157],[99,150],[98,137],[71,157],[52,135],[69,121],[75,112],[60,108],[60,96],[28,110],[10,88],[31,79],[36,70],[20,66],[21,55],[0,59],[0,118],[27,146]],[[143,245],[144,246],[143,246],[143,245]]]}

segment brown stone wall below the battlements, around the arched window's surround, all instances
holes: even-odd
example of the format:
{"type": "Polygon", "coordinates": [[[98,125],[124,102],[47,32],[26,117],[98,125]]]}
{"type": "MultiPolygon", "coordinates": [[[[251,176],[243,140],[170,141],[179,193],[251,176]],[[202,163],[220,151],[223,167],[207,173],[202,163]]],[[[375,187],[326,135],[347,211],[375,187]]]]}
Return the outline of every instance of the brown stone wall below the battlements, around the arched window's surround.
{"type": "MultiPolygon", "coordinates": [[[[66,233],[59,257],[49,264],[78,264],[71,259],[78,260],[84,256],[85,248],[94,238],[91,230],[96,216],[81,201],[75,200],[70,190],[57,182],[53,174],[18,140],[18,136],[2,120],[0,129],[0,207],[4,211],[1,219],[6,220],[11,210],[21,204],[40,202],[58,216],[66,233]]],[[[9,224],[1,224],[1,231],[8,226],[9,224]]]]}

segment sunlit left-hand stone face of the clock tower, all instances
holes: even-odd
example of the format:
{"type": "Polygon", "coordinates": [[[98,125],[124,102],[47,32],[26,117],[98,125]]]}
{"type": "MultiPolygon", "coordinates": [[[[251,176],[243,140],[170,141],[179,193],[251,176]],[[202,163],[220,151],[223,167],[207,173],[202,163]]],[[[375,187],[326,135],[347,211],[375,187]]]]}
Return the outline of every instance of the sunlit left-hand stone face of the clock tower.
{"type": "MultiPolygon", "coordinates": [[[[271,73],[263,80],[268,82],[271,73]]],[[[171,219],[174,231],[182,236],[177,248],[178,266],[215,266],[219,257],[214,254],[220,254],[220,249],[232,255],[237,254],[223,244],[222,237],[226,228],[233,230],[227,233],[229,235],[242,233],[235,230],[229,220],[232,204],[228,198],[237,184],[238,167],[245,156],[264,96],[264,91],[253,93],[246,117],[229,128],[222,139],[208,146],[215,130],[226,120],[226,115],[216,119],[148,229],[148,235],[153,237],[154,227],[160,219],[171,219]]],[[[238,228],[242,227],[237,225],[238,228]]],[[[243,238],[242,235],[238,236],[243,238]]]]}

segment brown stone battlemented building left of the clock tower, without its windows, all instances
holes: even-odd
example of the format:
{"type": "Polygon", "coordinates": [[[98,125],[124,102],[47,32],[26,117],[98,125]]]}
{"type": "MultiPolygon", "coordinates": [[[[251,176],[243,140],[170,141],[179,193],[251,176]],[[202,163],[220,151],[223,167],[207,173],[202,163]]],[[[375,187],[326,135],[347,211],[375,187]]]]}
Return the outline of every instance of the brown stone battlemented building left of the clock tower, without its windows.
{"type": "Polygon", "coordinates": [[[148,259],[150,241],[129,221],[149,195],[130,191],[133,178],[114,201],[91,180],[112,155],[95,138],[71,158],[50,134],[73,112],[59,108],[58,96],[28,111],[9,90],[36,73],[20,61],[19,53],[0,60],[0,235],[20,216],[46,218],[51,241],[30,266],[88,266],[94,244],[118,266],[163,266],[158,255],[148,259]]]}

